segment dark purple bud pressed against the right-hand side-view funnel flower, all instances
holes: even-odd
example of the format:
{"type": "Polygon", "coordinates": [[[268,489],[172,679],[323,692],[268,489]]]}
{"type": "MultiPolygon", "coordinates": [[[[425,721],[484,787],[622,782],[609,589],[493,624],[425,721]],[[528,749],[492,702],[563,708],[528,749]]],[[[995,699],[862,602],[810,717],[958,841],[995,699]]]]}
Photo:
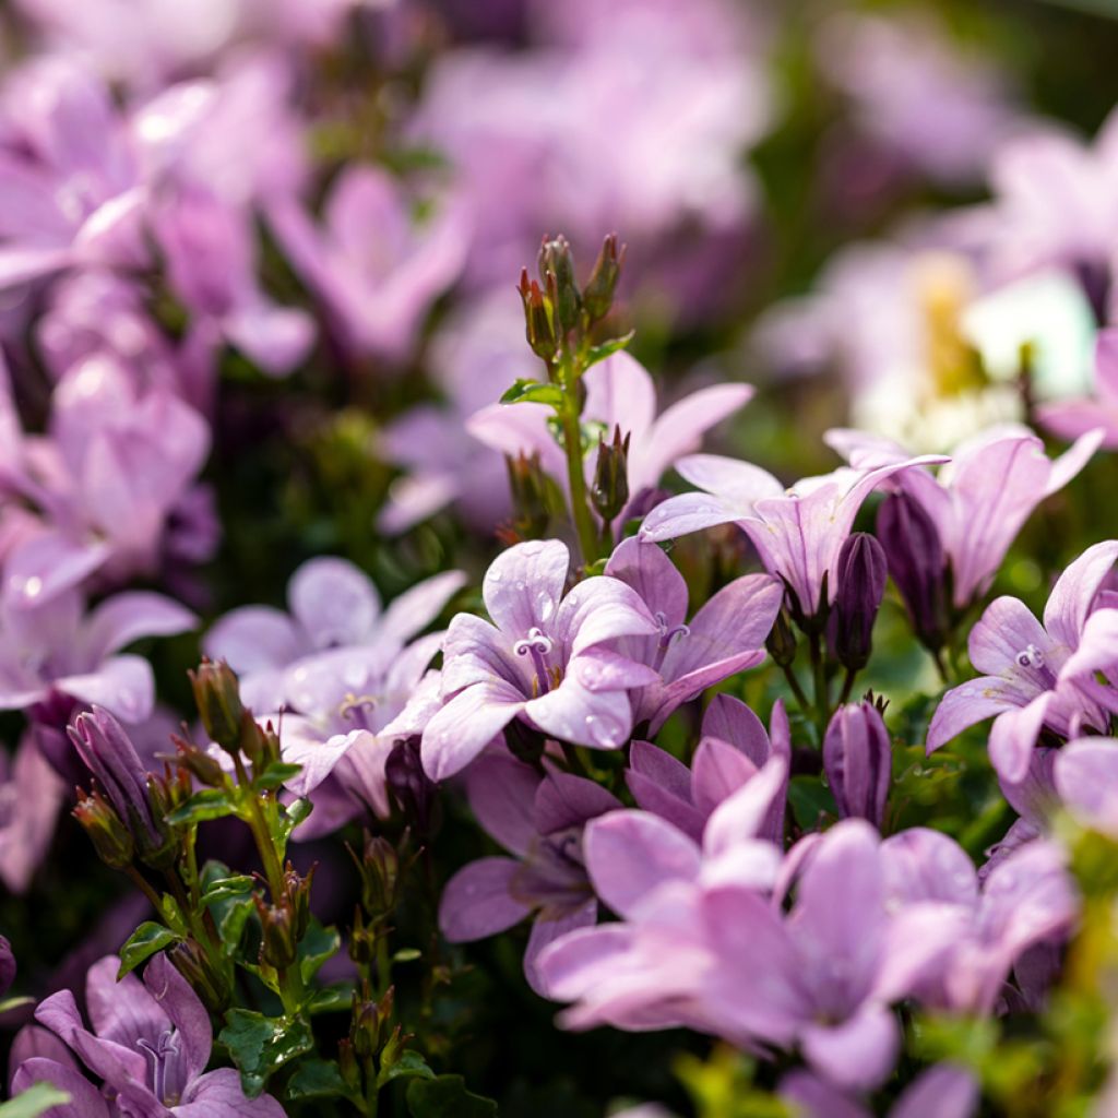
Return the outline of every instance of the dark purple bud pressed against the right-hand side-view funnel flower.
{"type": "Polygon", "coordinates": [[[878,510],[878,539],[916,635],[937,651],[949,626],[947,560],[939,530],[918,501],[894,493],[878,510]]]}

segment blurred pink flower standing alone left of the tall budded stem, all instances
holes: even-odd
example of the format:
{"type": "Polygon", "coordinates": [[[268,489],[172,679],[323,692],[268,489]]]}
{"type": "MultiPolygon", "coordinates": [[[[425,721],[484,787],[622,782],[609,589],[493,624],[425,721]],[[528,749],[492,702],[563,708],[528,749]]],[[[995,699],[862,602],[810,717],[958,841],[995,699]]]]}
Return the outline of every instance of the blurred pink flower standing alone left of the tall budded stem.
{"type": "Polygon", "coordinates": [[[353,165],[334,183],[321,230],[294,201],[269,209],[293,266],[353,353],[406,357],[462,268],[470,221],[461,200],[444,200],[421,224],[414,214],[415,200],[387,171],[353,165]]]}

